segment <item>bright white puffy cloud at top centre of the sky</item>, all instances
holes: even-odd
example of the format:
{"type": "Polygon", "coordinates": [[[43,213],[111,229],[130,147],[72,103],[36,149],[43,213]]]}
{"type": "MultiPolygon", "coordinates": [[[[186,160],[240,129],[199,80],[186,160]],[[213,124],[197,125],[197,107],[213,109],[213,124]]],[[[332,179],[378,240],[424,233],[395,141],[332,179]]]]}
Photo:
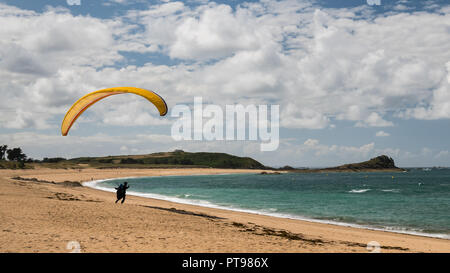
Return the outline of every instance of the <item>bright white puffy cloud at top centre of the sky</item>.
{"type": "Polygon", "coordinates": [[[216,59],[242,50],[255,50],[267,41],[267,32],[255,27],[245,9],[233,12],[228,5],[212,6],[198,19],[186,18],[175,30],[169,56],[181,59],[216,59]]]}

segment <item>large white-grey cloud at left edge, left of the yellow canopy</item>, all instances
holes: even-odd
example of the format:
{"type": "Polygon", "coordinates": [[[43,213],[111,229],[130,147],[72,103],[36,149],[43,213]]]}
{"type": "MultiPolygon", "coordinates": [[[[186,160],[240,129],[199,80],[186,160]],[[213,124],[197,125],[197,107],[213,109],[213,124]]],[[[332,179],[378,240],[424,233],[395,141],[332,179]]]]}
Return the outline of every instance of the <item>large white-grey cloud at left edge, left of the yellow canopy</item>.
{"type": "Polygon", "coordinates": [[[8,79],[0,82],[0,127],[48,128],[54,114],[96,85],[92,71],[122,59],[112,49],[113,33],[126,28],[119,21],[0,4],[0,24],[0,77],[8,79]]]}

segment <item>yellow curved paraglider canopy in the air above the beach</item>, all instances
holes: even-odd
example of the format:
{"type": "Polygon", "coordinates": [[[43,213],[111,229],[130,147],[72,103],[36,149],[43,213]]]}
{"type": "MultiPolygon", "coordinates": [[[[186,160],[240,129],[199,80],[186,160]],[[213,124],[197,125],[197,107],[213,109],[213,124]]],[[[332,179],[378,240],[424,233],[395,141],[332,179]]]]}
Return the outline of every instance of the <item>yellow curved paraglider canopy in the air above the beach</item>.
{"type": "Polygon", "coordinates": [[[91,105],[97,101],[104,99],[106,97],[118,94],[132,93],[146,98],[148,101],[153,103],[159,111],[161,116],[167,114],[167,104],[163,98],[153,91],[145,90],[136,87],[113,87],[107,89],[101,89],[84,95],[82,98],[77,100],[69,111],[67,111],[66,116],[61,124],[61,133],[66,136],[70,130],[70,127],[74,124],[77,118],[88,109],[91,105]]]}

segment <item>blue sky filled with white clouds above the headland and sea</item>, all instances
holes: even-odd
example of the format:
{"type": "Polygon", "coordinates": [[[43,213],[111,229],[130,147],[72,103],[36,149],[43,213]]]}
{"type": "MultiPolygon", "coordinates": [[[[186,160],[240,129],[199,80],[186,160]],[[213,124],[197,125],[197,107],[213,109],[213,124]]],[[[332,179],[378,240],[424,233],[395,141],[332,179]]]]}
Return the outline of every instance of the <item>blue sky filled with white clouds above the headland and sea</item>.
{"type": "Polygon", "coordinates": [[[450,4],[406,0],[0,0],[0,144],[32,158],[182,149],[269,166],[391,156],[450,166],[450,4]],[[379,2],[379,4],[377,4],[379,2]],[[87,92],[135,86],[171,107],[279,105],[280,144],[175,141],[170,115],[87,92]]]}

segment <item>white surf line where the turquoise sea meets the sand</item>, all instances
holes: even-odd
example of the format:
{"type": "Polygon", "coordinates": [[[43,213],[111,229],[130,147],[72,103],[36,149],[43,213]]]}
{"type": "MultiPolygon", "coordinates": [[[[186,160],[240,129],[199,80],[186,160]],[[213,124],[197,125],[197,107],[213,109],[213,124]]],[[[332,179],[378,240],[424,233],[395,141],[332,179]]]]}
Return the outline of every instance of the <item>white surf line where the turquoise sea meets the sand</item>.
{"type": "MultiPolygon", "coordinates": [[[[222,174],[213,174],[213,175],[230,175],[230,174],[234,174],[234,173],[222,173],[222,174]]],[[[190,175],[186,175],[186,176],[197,176],[197,175],[209,175],[209,174],[190,174],[190,175]]],[[[172,176],[172,175],[169,175],[169,176],[172,176]]],[[[178,176],[178,175],[173,175],[173,176],[178,176]]],[[[185,175],[180,175],[180,176],[185,176],[185,175]]],[[[100,180],[82,182],[82,185],[84,187],[89,187],[91,189],[114,193],[115,190],[107,188],[107,187],[97,186],[97,184],[104,182],[104,181],[113,181],[113,180],[117,180],[117,179],[136,179],[136,178],[145,178],[145,177],[146,176],[100,179],[100,180]]],[[[154,177],[154,176],[147,176],[147,177],[154,177]]],[[[358,229],[363,229],[363,230],[391,232],[391,233],[406,234],[406,235],[413,235],[413,236],[420,236],[420,237],[427,237],[427,238],[438,238],[438,239],[443,239],[443,240],[449,240],[449,243],[450,243],[450,236],[448,234],[426,233],[426,232],[413,231],[413,230],[396,230],[396,229],[389,229],[388,227],[379,227],[378,228],[378,227],[372,227],[369,225],[360,225],[360,224],[347,223],[347,222],[337,222],[337,221],[332,221],[332,220],[314,219],[314,218],[308,218],[308,217],[303,217],[303,216],[294,215],[294,214],[287,214],[287,213],[270,213],[270,212],[253,210],[253,209],[232,208],[232,207],[216,205],[215,203],[211,203],[209,201],[207,201],[209,204],[205,204],[205,203],[201,202],[202,200],[184,200],[182,198],[170,197],[170,196],[160,195],[160,194],[155,194],[155,193],[128,191],[127,195],[133,195],[133,196],[147,198],[147,199],[162,200],[162,201],[173,202],[173,203],[177,203],[177,204],[185,204],[185,205],[213,208],[213,209],[219,209],[219,210],[235,211],[235,212],[249,213],[249,214],[255,214],[255,215],[264,215],[264,216],[282,218],[282,219],[291,219],[291,220],[305,221],[305,222],[311,222],[311,223],[320,223],[320,224],[335,225],[335,226],[342,226],[342,227],[358,228],[358,229]],[[197,201],[197,202],[195,202],[195,201],[197,201]]]]}

